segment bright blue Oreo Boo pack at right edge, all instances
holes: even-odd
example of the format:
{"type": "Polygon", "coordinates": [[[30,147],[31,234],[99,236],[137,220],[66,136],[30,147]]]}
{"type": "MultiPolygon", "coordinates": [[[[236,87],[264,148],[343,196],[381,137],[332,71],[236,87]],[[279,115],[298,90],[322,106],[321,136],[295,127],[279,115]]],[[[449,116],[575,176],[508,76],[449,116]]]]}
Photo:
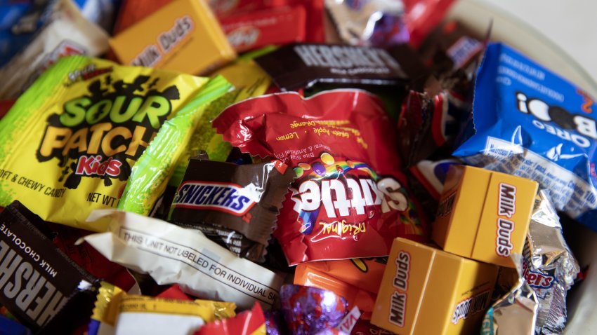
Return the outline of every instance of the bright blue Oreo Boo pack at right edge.
{"type": "Polygon", "coordinates": [[[492,43],[475,83],[475,135],[454,156],[536,180],[557,210],[597,230],[596,114],[583,90],[492,43]]]}

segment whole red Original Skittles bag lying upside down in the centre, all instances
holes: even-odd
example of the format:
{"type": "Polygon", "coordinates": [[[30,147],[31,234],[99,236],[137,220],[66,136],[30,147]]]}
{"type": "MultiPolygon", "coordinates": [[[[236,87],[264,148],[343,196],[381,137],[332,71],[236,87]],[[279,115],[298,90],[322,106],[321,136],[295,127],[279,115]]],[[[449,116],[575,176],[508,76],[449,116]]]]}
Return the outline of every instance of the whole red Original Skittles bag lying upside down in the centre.
{"type": "Polygon", "coordinates": [[[279,93],[234,104],[213,121],[241,151],[294,167],[274,232],[289,264],[381,257],[395,237],[427,239],[381,106],[362,90],[279,93]]]}

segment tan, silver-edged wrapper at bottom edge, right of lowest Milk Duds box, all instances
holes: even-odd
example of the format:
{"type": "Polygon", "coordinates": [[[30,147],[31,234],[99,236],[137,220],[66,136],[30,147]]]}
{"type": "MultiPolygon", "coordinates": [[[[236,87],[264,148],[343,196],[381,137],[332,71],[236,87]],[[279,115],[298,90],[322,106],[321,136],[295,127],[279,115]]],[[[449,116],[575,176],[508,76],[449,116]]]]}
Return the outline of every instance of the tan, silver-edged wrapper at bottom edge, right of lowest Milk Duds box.
{"type": "Polygon", "coordinates": [[[537,321],[537,296],[523,278],[522,259],[513,254],[519,280],[505,296],[487,310],[481,335],[533,335],[537,321]]]}

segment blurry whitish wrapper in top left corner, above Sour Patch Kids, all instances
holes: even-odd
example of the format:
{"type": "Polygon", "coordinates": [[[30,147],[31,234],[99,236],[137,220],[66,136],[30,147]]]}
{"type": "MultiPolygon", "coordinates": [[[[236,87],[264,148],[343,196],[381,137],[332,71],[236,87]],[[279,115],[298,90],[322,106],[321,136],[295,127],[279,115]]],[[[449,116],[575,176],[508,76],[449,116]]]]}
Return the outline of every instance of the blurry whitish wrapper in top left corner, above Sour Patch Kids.
{"type": "MultiPolygon", "coordinates": [[[[44,2],[44,1],[41,1],[44,2]]],[[[0,99],[15,99],[60,57],[100,56],[108,35],[86,20],[70,0],[48,1],[48,22],[20,53],[0,69],[0,99]]]]}

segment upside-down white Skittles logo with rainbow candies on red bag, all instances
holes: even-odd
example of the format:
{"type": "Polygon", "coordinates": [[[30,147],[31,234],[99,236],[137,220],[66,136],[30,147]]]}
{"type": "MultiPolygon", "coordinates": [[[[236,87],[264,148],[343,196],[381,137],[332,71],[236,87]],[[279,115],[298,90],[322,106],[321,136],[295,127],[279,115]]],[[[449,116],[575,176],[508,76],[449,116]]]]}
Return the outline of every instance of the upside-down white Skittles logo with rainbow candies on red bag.
{"type": "Polygon", "coordinates": [[[321,153],[310,163],[294,167],[297,182],[291,188],[293,210],[302,221],[300,232],[312,242],[353,238],[367,231],[367,221],[390,212],[404,212],[405,190],[393,177],[381,177],[367,164],[321,153]]]}

